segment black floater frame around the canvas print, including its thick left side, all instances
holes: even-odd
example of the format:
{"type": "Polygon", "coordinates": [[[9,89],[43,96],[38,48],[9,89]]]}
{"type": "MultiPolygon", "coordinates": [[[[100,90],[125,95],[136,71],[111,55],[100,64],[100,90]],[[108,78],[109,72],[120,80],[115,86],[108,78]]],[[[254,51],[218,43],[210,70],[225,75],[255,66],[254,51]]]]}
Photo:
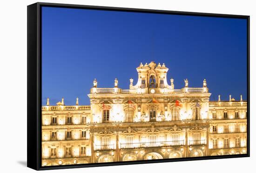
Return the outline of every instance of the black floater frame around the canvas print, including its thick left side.
{"type": "Polygon", "coordinates": [[[85,6],[73,4],[55,4],[55,3],[35,3],[27,6],[27,167],[35,170],[63,169],[63,168],[80,168],[80,167],[101,167],[101,166],[116,166],[116,165],[131,165],[173,161],[188,161],[188,160],[209,160],[209,159],[224,159],[249,157],[250,155],[250,133],[247,131],[247,154],[238,155],[219,155],[219,156],[203,156],[203,157],[187,157],[176,159],[161,159],[161,160],[136,160],[136,161],[120,161],[109,163],[88,163],[80,165],[62,165],[62,166],[41,166],[41,7],[65,7],[65,8],[80,8],[80,9],[95,9],[95,10],[110,10],[110,11],[126,11],[139,13],[163,13],[163,14],[179,14],[193,16],[208,16],[222,18],[237,18],[247,19],[247,129],[250,124],[250,82],[249,82],[249,16],[245,15],[230,15],[230,14],[214,14],[214,13],[195,13],[195,12],[177,12],[166,10],[149,10],[107,6],[85,6]]]}

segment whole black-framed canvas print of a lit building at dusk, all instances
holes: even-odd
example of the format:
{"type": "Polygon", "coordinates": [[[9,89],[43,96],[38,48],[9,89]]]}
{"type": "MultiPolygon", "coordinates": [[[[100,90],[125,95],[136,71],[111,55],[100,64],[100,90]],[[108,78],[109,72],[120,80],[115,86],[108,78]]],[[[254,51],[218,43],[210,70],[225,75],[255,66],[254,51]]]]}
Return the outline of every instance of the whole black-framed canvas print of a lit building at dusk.
{"type": "Polygon", "coordinates": [[[249,16],[27,6],[27,166],[249,156],[249,16]]]}

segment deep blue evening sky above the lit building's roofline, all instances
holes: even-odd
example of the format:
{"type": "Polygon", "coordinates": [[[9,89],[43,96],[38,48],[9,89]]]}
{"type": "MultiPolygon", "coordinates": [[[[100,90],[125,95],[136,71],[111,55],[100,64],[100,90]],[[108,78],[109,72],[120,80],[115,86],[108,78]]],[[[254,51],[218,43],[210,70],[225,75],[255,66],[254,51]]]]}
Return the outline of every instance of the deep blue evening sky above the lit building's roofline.
{"type": "Polygon", "coordinates": [[[89,104],[99,88],[129,88],[142,62],[165,63],[175,89],[202,87],[211,100],[246,99],[247,21],[153,13],[42,8],[42,103],[89,104]]]}

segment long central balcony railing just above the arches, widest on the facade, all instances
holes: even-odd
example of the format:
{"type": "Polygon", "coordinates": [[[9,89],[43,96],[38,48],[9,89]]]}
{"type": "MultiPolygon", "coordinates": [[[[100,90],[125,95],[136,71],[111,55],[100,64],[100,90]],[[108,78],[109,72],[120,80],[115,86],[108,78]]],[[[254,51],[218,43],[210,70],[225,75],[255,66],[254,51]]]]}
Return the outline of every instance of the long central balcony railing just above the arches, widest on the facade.
{"type": "Polygon", "coordinates": [[[147,147],[171,147],[182,146],[184,141],[159,141],[159,142],[138,142],[138,143],[121,143],[121,149],[125,148],[147,148],[147,147]]]}

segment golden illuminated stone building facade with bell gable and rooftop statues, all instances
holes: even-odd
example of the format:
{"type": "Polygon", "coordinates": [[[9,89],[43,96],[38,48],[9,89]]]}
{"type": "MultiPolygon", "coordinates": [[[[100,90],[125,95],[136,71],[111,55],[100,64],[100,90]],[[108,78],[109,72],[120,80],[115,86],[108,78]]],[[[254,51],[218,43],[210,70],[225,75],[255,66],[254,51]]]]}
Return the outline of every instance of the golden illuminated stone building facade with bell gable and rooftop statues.
{"type": "Polygon", "coordinates": [[[129,90],[90,90],[89,106],[42,106],[42,166],[247,152],[247,102],[209,101],[207,82],[175,89],[165,64],[140,64],[129,90]]]}

